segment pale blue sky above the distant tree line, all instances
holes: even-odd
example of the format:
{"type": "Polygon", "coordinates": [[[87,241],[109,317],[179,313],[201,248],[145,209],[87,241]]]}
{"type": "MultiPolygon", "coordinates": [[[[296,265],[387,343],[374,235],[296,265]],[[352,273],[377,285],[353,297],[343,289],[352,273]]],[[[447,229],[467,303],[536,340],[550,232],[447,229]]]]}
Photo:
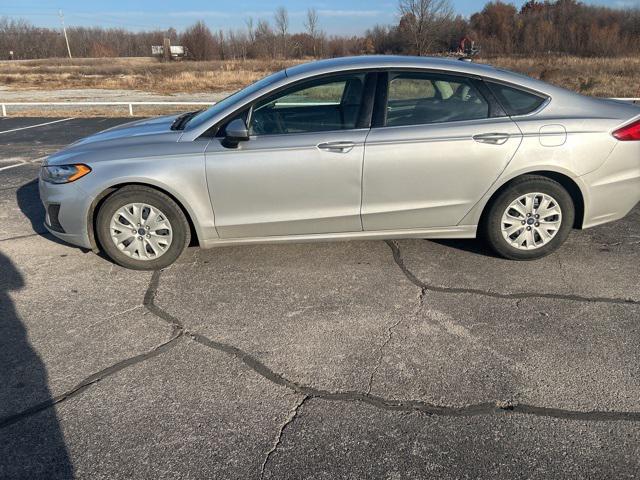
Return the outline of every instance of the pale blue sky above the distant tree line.
{"type": "MultiPolygon", "coordinates": [[[[480,10],[485,1],[451,0],[456,13],[469,16],[480,10]]],[[[584,3],[616,8],[640,7],[640,0],[583,0],[584,3]]],[[[520,7],[524,0],[511,3],[520,7]]],[[[290,30],[304,29],[308,8],[315,8],[322,29],[328,34],[361,34],[375,24],[397,21],[397,1],[393,0],[0,0],[0,17],[20,17],[34,25],[60,26],[58,10],[62,9],[67,25],[123,27],[129,30],[180,30],[197,20],[210,28],[244,28],[247,17],[273,20],[273,11],[285,7],[289,12],[290,30]]]]}

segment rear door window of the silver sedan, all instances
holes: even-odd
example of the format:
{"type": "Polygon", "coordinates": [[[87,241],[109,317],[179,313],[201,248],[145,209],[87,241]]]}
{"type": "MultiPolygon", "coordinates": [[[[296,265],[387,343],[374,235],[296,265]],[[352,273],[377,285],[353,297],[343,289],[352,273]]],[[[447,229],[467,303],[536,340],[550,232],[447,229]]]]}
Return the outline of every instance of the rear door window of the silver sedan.
{"type": "Polygon", "coordinates": [[[469,79],[430,73],[401,73],[392,77],[389,83],[388,127],[488,117],[489,104],[469,79]]]}

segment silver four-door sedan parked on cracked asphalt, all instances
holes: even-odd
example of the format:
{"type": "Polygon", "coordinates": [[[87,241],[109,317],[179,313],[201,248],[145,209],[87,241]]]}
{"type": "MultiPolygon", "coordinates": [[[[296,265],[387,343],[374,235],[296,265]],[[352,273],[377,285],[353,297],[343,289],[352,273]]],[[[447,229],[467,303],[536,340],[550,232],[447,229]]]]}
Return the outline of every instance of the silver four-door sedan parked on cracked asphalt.
{"type": "Polygon", "coordinates": [[[51,155],[46,227],[134,269],[201,247],[472,238],[540,258],[640,200],[640,108],[486,65],[355,57],[51,155]]]}

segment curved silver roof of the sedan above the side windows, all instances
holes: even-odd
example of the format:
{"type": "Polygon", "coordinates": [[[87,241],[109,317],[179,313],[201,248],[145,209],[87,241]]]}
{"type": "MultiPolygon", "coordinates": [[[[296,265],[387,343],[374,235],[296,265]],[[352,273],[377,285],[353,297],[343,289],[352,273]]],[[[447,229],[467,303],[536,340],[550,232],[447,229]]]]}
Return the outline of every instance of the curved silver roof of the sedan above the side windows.
{"type": "Polygon", "coordinates": [[[559,87],[536,80],[515,72],[501,70],[492,65],[461,61],[445,57],[411,57],[399,55],[363,55],[357,57],[340,57],[327,60],[317,60],[287,68],[287,77],[302,79],[305,77],[337,73],[344,70],[357,69],[389,69],[410,68],[429,69],[463,75],[474,75],[497,81],[513,83],[530,88],[538,92],[552,95],[558,93],[559,87]]]}

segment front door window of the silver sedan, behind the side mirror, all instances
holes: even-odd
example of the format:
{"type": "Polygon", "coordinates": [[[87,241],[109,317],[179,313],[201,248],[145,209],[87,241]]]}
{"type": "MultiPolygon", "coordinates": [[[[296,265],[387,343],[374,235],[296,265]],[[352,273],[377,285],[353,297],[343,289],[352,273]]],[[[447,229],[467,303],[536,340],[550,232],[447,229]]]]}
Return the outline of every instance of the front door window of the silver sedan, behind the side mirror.
{"type": "Polygon", "coordinates": [[[356,128],[365,74],[305,82],[258,102],[251,135],[326,132],[356,128]]]}

